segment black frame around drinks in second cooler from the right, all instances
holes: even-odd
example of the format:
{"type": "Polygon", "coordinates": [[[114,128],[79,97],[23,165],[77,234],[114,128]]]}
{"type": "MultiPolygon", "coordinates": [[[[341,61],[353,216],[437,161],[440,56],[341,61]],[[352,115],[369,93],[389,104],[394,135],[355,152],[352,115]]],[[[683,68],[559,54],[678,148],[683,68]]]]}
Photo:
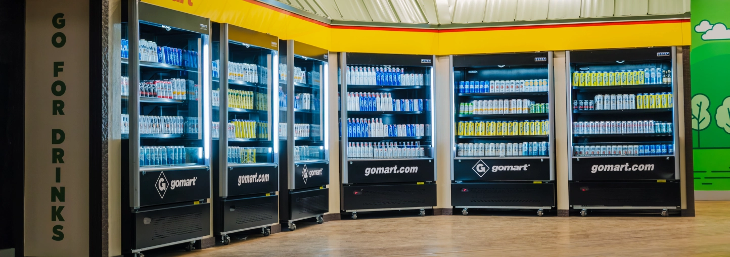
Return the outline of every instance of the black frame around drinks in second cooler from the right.
{"type": "MultiPolygon", "coordinates": [[[[555,175],[555,103],[554,103],[554,82],[553,82],[553,53],[502,53],[482,55],[452,55],[450,80],[452,97],[453,123],[459,118],[485,118],[502,119],[513,117],[523,118],[548,118],[550,120],[550,133],[547,136],[521,136],[525,141],[546,140],[550,143],[548,156],[507,156],[507,157],[458,157],[456,150],[456,128],[450,135],[452,137],[452,165],[451,165],[451,202],[454,207],[464,208],[462,214],[466,215],[470,208],[488,209],[537,209],[538,215],[542,210],[550,210],[556,207],[556,175],[555,175]],[[523,93],[458,93],[456,85],[459,72],[468,72],[466,69],[499,69],[504,67],[520,67],[545,65],[548,78],[547,92],[523,92],[523,93]],[[548,113],[545,114],[522,114],[522,115],[458,115],[456,99],[473,99],[480,97],[496,97],[494,99],[510,99],[513,97],[533,97],[534,99],[547,99],[548,113]],[[506,97],[506,98],[505,98],[506,97]],[[475,166],[482,165],[491,167],[483,169],[484,172],[477,172],[475,166]],[[504,171],[495,171],[495,167],[510,166],[504,171]],[[489,170],[488,170],[489,169],[489,170]]],[[[500,73],[501,74],[501,73],[500,73]]],[[[506,74],[504,74],[506,75],[506,74]]],[[[524,74],[521,74],[524,75],[524,74]]],[[[464,77],[466,74],[459,74],[464,77]]],[[[505,77],[507,78],[507,77],[505,77]]],[[[517,136],[512,136],[517,137],[517,136]]],[[[493,139],[505,140],[507,136],[497,137],[467,137],[458,136],[459,139],[493,139]]],[[[499,141],[496,141],[499,142],[499,141]]]]}

